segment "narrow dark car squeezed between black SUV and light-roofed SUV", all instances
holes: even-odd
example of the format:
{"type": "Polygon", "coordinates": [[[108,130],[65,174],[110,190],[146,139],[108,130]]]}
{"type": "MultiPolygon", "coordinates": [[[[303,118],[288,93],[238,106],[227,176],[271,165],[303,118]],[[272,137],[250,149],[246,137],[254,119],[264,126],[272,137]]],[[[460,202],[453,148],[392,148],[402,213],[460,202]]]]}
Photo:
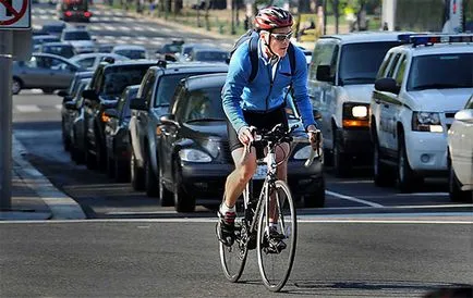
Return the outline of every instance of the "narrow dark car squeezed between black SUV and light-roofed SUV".
{"type": "Polygon", "coordinates": [[[117,182],[130,181],[130,101],[136,98],[140,85],[129,86],[121,95],[116,109],[105,111],[109,120],[105,124],[107,147],[107,174],[117,182]]]}

